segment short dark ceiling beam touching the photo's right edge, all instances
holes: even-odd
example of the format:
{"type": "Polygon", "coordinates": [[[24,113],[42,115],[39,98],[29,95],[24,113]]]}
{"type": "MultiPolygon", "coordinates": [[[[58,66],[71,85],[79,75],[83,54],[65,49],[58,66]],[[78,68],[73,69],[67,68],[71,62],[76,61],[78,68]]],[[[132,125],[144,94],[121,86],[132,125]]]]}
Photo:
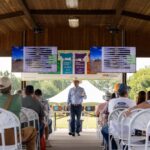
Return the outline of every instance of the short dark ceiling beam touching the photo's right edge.
{"type": "Polygon", "coordinates": [[[135,19],[141,19],[145,21],[150,21],[150,16],[149,15],[143,15],[135,12],[130,12],[130,11],[123,11],[122,16],[127,16],[135,19]]]}

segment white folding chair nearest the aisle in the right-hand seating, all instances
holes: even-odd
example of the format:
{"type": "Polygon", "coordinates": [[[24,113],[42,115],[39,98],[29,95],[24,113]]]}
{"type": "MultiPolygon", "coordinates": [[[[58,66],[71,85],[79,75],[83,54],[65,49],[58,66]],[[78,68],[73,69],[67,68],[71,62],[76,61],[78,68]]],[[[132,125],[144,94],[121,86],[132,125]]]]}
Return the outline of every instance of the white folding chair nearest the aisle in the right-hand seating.
{"type": "MultiPolygon", "coordinates": [[[[112,150],[112,138],[117,138],[116,135],[114,135],[114,132],[112,131],[114,127],[114,125],[116,124],[118,117],[120,115],[120,113],[125,110],[125,108],[117,108],[115,109],[111,114],[109,114],[108,117],[108,141],[109,141],[109,149],[112,150]]],[[[115,131],[116,132],[116,131],[115,131]]],[[[116,143],[118,145],[118,143],[116,143]]]]}

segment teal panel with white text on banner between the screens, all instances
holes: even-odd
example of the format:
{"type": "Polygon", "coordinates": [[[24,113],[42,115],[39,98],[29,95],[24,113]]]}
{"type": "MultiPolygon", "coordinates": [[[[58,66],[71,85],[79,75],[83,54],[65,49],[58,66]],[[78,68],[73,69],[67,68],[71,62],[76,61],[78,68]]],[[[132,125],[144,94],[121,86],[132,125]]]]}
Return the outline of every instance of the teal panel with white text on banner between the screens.
{"type": "Polygon", "coordinates": [[[62,73],[73,74],[73,54],[72,53],[61,53],[60,56],[63,59],[62,73]]]}

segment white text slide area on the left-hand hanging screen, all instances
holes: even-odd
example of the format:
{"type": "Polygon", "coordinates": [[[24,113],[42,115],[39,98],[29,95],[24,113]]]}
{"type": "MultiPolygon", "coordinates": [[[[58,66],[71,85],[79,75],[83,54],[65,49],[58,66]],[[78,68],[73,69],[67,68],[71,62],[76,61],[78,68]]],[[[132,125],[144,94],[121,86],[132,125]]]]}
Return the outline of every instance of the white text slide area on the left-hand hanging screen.
{"type": "Polygon", "coordinates": [[[24,47],[23,71],[57,72],[57,47],[24,47]]]}

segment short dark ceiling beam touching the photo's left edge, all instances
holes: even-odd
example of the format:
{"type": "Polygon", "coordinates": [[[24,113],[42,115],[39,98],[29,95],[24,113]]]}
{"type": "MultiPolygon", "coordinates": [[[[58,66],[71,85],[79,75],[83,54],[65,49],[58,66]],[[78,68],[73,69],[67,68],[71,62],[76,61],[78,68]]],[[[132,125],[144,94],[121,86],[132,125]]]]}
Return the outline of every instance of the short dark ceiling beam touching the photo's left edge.
{"type": "Polygon", "coordinates": [[[16,11],[16,12],[12,12],[12,13],[1,14],[0,20],[10,19],[10,18],[14,18],[14,17],[21,17],[21,16],[24,16],[24,12],[16,11]]]}

